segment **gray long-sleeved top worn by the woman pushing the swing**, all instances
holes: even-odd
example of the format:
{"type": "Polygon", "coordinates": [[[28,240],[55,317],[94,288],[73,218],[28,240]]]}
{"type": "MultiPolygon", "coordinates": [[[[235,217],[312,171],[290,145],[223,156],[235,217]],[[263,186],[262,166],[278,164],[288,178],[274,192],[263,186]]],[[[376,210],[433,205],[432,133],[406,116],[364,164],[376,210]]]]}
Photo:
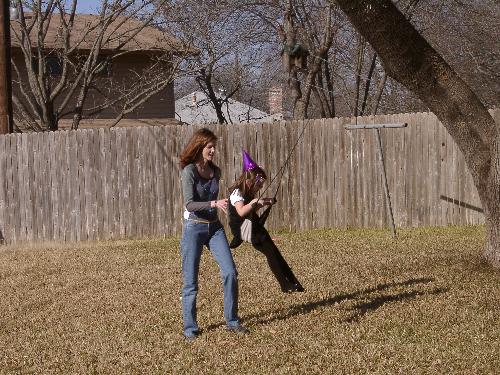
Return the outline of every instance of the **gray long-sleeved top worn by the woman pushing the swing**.
{"type": "Polygon", "coordinates": [[[203,178],[196,165],[188,164],[181,172],[182,195],[184,199],[184,218],[217,220],[217,209],[210,207],[210,202],[219,195],[220,169],[212,164],[214,176],[203,178]]]}

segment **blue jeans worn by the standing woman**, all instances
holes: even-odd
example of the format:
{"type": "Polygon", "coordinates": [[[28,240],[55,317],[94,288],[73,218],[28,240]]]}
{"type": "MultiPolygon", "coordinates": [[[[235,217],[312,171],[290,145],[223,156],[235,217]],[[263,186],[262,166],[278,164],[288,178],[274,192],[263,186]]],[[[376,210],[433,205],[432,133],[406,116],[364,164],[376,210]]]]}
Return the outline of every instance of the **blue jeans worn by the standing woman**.
{"type": "Polygon", "coordinates": [[[240,324],[238,318],[238,272],[229,249],[224,227],[220,222],[204,224],[184,220],[181,240],[182,254],[182,315],[184,335],[193,336],[199,331],[196,322],[196,295],[198,271],[203,245],[207,246],[219,265],[224,290],[224,318],[229,327],[240,324]]]}

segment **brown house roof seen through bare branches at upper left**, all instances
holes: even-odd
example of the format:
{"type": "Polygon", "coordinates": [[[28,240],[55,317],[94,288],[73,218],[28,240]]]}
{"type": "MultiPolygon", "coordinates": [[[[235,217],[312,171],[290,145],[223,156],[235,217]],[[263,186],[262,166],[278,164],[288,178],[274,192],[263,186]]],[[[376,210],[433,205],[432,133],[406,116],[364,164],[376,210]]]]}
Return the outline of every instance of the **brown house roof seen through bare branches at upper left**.
{"type": "MultiPolygon", "coordinates": [[[[33,22],[31,14],[26,13],[26,23],[29,25],[33,22]]],[[[69,15],[66,15],[69,18],[69,15]]],[[[77,46],[79,50],[89,50],[98,35],[99,16],[94,14],[76,14],[71,32],[71,46],[77,46]]],[[[103,50],[113,50],[124,39],[129,38],[137,32],[144,23],[138,19],[129,17],[118,17],[111,23],[105,33],[105,38],[109,37],[109,42],[103,45],[103,50]]],[[[46,49],[61,49],[63,48],[63,36],[61,33],[62,22],[58,14],[54,14],[50,20],[47,35],[44,39],[44,48],[46,49]]],[[[19,21],[11,21],[11,45],[12,47],[21,46],[21,24],[19,21]]],[[[30,33],[32,46],[37,46],[37,33],[33,28],[30,33]]],[[[124,51],[179,51],[193,52],[186,48],[183,43],[167,33],[146,26],[140,30],[137,35],[134,35],[120,50],[124,51]]]]}

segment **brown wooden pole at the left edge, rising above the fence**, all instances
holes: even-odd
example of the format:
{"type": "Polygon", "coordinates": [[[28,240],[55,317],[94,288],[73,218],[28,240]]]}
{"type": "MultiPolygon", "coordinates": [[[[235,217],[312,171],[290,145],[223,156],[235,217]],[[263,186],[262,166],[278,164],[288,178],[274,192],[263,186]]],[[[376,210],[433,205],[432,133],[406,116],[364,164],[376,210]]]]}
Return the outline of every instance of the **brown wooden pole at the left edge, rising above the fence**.
{"type": "Polygon", "coordinates": [[[9,0],[0,0],[0,134],[13,129],[9,9],[9,0]]]}

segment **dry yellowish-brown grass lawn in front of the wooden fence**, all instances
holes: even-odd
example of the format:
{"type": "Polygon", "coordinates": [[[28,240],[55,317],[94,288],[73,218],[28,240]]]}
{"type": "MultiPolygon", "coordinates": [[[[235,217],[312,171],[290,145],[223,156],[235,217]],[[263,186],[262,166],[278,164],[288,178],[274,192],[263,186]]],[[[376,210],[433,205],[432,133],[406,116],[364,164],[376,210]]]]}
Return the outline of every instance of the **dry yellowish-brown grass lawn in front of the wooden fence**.
{"type": "Polygon", "coordinates": [[[187,343],[178,239],[0,249],[1,374],[498,374],[500,271],[483,227],[276,233],[305,293],[283,294],[265,258],[234,255],[240,315],[202,257],[187,343]]]}

